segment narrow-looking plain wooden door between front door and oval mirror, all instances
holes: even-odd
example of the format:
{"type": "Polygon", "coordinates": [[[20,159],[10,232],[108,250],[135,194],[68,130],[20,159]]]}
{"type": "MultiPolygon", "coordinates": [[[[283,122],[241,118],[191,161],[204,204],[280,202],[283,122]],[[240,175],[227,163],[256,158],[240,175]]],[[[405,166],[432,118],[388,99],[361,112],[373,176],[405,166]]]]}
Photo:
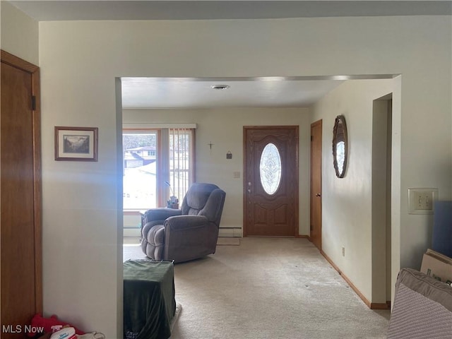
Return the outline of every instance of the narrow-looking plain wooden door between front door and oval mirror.
{"type": "Polygon", "coordinates": [[[322,121],[311,124],[311,242],[322,249],[322,121]]]}

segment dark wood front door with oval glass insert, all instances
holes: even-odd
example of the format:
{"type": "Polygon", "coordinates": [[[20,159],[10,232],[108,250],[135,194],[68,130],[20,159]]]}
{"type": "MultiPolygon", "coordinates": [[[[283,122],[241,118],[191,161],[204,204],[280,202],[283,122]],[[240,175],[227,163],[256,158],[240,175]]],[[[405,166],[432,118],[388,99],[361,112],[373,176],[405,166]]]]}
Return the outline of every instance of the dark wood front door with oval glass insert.
{"type": "Polygon", "coordinates": [[[244,236],[298,234],[298,126],[244,127],[244,236]]]}

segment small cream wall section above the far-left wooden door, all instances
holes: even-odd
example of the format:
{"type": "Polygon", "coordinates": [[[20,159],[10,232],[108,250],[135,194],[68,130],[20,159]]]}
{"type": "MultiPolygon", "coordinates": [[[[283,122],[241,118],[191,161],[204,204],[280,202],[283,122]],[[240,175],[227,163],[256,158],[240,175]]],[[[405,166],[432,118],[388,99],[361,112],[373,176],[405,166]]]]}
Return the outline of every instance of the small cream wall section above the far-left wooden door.
{"type": "Polygon", "coordinates": [[[1,49],[38,66],[37,21],[6,1],[0,1],[0,16],[1,49]]]}

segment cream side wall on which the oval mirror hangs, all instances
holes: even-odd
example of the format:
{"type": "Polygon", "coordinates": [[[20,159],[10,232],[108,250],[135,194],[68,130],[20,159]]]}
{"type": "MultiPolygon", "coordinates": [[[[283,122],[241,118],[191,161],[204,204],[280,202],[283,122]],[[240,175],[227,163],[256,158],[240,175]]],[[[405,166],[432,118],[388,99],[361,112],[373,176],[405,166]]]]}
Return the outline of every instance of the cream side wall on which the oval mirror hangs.
{"type": "Polygon", "coordinates": [[[393,89],[392,79],[347,81],[314,105],[311,119],[323,121],[322,249],[364,297],[379,303],[386,302],[386,257],[372,256],[372,112],[373,100],[393,89]],[[347,123],[349,152],[341,179],[335,176],[331,153],[335,117],[340,114],[347,123]],[[372,268],[379,264],[383,299],[375,299],[379,294],[372,293],[372,268]]]}

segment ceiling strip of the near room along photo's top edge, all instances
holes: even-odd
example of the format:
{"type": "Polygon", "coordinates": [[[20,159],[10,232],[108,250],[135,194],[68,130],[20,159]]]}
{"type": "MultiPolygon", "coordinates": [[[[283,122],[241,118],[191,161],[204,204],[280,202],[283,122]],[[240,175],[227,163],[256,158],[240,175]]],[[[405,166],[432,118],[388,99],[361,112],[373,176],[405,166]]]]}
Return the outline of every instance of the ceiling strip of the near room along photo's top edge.
{"type": "Polygon", "coordinates": [[[40,21],[191,20],[451,14],[451,1],[10,1],[40,21]]]}

